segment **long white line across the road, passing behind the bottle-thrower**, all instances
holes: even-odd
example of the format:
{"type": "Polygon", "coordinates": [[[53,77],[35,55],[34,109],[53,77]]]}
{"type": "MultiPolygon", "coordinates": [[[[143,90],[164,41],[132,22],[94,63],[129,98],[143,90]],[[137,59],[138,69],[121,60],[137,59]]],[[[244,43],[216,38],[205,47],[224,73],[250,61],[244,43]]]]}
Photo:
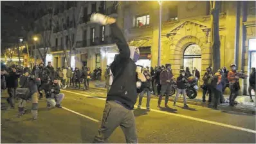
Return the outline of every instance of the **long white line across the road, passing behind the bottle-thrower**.
{"type": "MultiPolygon", "coordinates": [[[[62,90],[62,91],[65,91],[65,90],[62,90]]],[[[97,98],[96,96],[90,96],[90,95],[84,95],[82,93],[75,93],[73,91],[65,91],[65,92],[68,92],[68,93],[73,93],[73,94],[76,94],[76,95],[83,95],[83,96],[87,96],[87,97],[94,97],[94,98],[97,98]]],[[[99,100],[105,100],[105,98],[97,98],[99,100]]],[[[136,105],[134,105],[134,107],[136,107],[136,105]]],[[[143,109],[145,109],[145,107],[142,107],[143,109]]],[[[219,126],[222,126],[222,127],[228,127],[230,129],[237,129],[237,130],[240,130],[240,131],[246,131],[246,132],[251,132],[251,133],[254,133],[256,134],[256,131],[253,130],[253,129],[246,129],[244,127],[237,127],[237,126],[234,126],[234,125],[228,125],[228,124],[225,124],[225,123],[219,123],[219,122],[213,122],[213,121],[210,121],[210,120],[203,120],[201,118],[194,118],[192,116],[185,116],[185,115],[182,115],[182,114],[175,114],[175,113],[168,113],[166,111],[160,111],[160,110],[157,110],[157,109],[151,109],[151,111],[154,111],[156,113],[162,113],[162,114],[168,114],[168,115],[171,115],[171,116],[179,116],[181,118],[187,118],[189,120],[195,120],[197,122],[204,122],[204,123],[210,123],[212,125],[219,125],[219,126]]]]}

